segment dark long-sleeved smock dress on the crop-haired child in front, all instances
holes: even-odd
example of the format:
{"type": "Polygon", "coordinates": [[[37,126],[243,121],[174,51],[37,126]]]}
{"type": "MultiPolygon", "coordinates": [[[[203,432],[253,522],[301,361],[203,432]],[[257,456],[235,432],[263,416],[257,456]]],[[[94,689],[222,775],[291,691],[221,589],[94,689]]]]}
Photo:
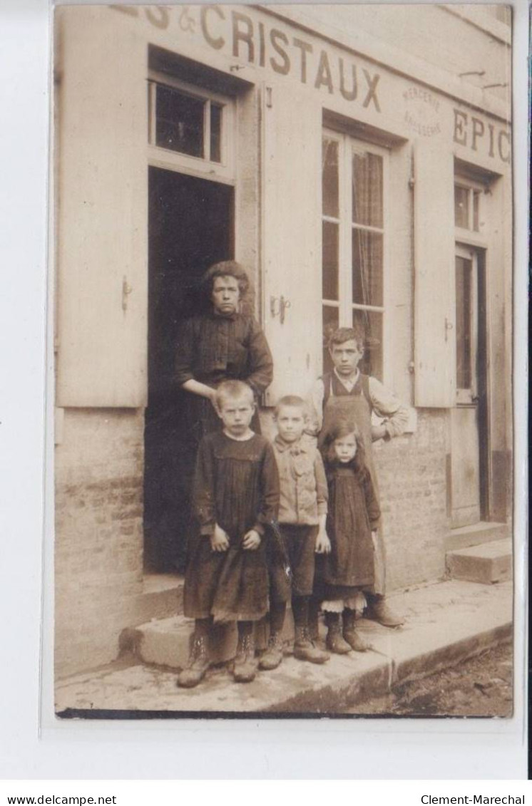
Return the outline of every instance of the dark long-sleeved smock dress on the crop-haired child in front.
{"type": "Polygon", "coordinates": [[[193,510],[199,534],[192,541],[185,576],[185,616],[215,621],[258,621],[268,612],[265,528],[277,517],[279,477],[272,447],[260,434],[239,441],[207,434],[197,453],[193,510]],[[227,533],[227,551],[213,551],[210,534],[227,533]],[[244,535],[262,537],[256,550],[244,535]]]}

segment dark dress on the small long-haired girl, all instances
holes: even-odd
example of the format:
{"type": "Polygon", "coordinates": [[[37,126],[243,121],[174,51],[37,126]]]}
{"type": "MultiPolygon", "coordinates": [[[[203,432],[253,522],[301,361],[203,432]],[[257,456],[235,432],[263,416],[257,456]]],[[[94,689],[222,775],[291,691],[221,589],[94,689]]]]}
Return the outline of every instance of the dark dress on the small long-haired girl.
{"type": "Polygon", "coordinates": [[[353,588],[367,588],[375,580],[372,530],[377,528],[380,508],[372,477],[356,456],[347,464],[327,463],[326,473],[331,551],[324,558],[325,598],[335,600],[348,598],[353,588]]]}

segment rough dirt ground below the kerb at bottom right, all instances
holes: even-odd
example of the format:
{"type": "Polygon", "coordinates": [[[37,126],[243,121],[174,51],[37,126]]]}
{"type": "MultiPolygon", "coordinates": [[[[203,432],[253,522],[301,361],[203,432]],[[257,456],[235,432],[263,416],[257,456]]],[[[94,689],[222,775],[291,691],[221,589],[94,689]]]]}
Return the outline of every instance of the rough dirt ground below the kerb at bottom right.
{"type": "Polygon", "coordinates": [[[398,686],[349,713],[389,717],[510,717],[513,708],[512,646],[503,644],[476,658],[398,686]]]}

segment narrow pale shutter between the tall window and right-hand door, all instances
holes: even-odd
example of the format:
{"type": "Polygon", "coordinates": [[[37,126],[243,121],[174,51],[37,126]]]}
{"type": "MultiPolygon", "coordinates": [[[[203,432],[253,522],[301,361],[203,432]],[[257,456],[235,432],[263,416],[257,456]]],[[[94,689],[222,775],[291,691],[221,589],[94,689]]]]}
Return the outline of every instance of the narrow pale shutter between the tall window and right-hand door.
{"type": "Polygon", "coordinates": [[[418,141],[414,152],[415,405],[455,401],[455,208],[451,152],[418,141]]]}

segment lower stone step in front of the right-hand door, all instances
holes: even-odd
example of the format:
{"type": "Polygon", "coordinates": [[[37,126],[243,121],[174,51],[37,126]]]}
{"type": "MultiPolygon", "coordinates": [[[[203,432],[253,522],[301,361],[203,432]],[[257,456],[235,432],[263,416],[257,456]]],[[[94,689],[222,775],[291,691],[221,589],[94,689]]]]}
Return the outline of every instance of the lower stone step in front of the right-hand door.
{"type": "Polygon", "coordinates": [[[446,566],[454,580],[493,584],[512,579],[512,541],[495,540],[482,546],[447,551],[446,566]]]}

